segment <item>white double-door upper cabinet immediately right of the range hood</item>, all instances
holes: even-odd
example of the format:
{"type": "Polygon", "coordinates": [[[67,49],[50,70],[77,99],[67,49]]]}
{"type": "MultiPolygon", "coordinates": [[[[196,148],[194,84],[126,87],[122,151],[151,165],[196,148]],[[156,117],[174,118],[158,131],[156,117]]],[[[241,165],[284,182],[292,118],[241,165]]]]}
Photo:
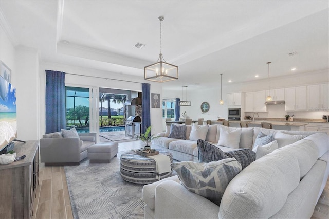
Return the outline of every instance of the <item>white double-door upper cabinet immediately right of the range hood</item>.
{"type": "Polygon", "coordinates": [[[307,86],[285,88],[285,111],[307,111],[307,86]]]}

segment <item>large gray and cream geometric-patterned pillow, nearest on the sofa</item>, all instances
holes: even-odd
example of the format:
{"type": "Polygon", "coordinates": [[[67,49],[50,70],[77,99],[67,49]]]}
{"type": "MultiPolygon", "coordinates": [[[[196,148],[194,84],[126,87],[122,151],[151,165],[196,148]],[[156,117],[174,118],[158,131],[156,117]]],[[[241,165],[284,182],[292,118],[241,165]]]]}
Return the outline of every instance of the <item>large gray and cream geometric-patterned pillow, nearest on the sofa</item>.
{"type": "Polygon", "coordinates": [[[191,192],[220,205],[224,191],[234,176],[241,171],[235,158],[209,163],[182,161],[172,163],[181,184],[191,192]]]}

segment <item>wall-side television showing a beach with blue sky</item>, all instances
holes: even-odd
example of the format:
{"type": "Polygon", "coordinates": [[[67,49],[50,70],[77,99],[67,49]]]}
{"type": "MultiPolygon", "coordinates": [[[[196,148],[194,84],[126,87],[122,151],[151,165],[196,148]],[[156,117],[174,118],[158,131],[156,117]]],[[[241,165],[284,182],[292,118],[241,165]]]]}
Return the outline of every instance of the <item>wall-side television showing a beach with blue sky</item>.
{"type": "Polygon", "coordinates": [[[16,89],[0,76],[0,152],[12,149],[16,138],[16,89]]]}

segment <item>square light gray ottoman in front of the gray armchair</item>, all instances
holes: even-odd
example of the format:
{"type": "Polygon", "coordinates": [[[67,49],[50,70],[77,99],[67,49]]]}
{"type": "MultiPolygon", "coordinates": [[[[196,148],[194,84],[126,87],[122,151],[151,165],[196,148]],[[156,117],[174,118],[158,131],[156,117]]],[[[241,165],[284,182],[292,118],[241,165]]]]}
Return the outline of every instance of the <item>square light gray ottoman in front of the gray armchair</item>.
{"type": "Polygon", "coordinates": [[[109,160],[117,156],[119,151],[118,142],[99,142],[87,150],[90,163],[109,163],[109,160]]]}

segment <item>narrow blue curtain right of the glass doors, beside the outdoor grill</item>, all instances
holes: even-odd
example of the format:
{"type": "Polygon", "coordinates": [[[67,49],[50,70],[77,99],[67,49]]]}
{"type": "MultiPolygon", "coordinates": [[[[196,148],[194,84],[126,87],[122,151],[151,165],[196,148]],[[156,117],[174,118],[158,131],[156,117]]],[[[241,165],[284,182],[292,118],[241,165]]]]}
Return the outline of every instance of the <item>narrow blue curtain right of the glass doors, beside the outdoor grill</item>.
{"type": "Polygon", "coordinates": [[[150,87],[150,84],[142,83],[142,133],[151,125],[150,87]]]}

